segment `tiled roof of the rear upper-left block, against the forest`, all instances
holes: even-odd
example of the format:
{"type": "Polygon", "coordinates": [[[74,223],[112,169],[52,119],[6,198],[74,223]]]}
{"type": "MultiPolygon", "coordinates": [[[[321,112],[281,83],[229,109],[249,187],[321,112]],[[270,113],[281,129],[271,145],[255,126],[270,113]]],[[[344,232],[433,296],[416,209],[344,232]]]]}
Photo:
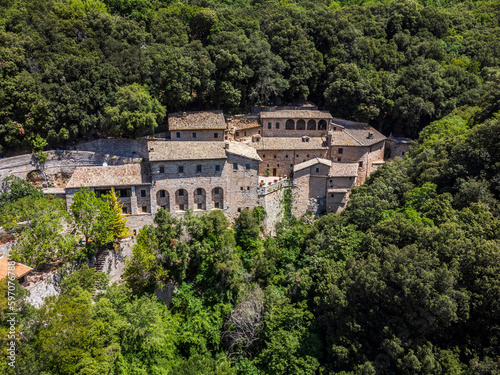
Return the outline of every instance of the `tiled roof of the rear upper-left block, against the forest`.
{"type": "Polygon", "coordinates": [[[226,129],[222,111],[176,112],[168,115],[168,130],[226,129]]]}

